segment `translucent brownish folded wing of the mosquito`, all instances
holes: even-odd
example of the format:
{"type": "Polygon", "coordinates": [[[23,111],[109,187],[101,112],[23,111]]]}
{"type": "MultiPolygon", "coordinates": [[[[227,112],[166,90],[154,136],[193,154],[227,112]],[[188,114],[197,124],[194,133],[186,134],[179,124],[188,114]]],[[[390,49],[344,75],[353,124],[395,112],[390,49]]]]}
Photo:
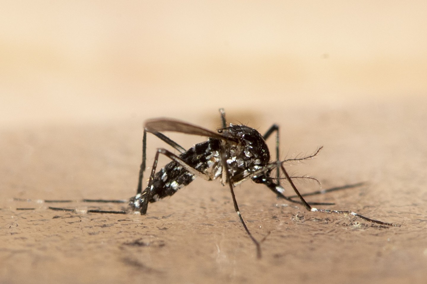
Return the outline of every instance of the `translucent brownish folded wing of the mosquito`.
{"type": "Polygon", "coordinates": [[[172,131],[172,132],[181,132],[191,135],[206,136],[221,140],[239,142],[237,139],[224,137],[217,132],[213,132],[209,129],[196,126],[184,121],[172,119],[172,118],[153,118],[145,121],[145,128],[148,132],[162,132],[162,131],[172,131]]]}

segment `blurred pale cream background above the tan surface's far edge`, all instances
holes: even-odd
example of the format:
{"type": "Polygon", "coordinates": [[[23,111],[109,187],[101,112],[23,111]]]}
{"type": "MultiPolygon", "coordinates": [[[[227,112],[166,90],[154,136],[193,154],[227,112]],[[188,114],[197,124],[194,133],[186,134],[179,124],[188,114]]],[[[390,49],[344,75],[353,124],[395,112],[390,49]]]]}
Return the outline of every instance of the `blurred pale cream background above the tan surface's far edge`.
{"type": "Polygon", "coordinates": [[[427,90],[425,1],[2,1],[0,123],[427,90]]]}

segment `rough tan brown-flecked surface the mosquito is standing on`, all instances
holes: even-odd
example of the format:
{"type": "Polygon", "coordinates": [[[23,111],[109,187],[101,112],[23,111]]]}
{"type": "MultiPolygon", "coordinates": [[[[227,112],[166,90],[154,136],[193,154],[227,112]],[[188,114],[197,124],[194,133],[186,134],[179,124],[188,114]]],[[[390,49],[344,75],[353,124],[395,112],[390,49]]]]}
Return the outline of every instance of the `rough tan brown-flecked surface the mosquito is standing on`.
{"type": "MultiPolygon", "coordinates": [[[[290,149],[288,155],[325,146],[315,160],[288,167],[291,172],[316,176],[324,188],[368,181],[311,199],[402,227],[283,207],[268,189],[249,181],[236,188],[243,217],[256,238],[270,232],[257,260],[228,190],[216,181],[196,180],[150,204],[145,216],[53,212],[43,204],[8,201],[128,198],[136,186],[142,135],[135,121],[15,129],[1,132],[1,282],[423,283],[424,107],[360,106],[312,111],[311,118],[289,113],[292,121],[281,123],[287,129],[281,148],[290,149]]],[[[212,124],[214,119],[219,118],[213,110],[212,124]]],[[[211,127],[208,120],[205,126],[211,127]]],[[[150,149],[159,146],[152,137],[149,143],[150,149]]],[[[307,182],[298,186],[305,192],[316,188],[307,182]]]]}

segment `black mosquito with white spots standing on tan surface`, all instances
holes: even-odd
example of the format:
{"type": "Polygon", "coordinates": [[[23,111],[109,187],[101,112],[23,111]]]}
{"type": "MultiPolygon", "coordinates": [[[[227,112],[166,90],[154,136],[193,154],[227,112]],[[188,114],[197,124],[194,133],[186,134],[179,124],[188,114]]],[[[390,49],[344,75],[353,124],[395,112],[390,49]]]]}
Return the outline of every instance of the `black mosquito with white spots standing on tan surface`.
{"type": "MultiPolygon", "coordinates": [[[[367,218],[348,210],[330,210],[319,209],[312,205],[331,205],[330,203],[310,203],[308,204],[303,196],[324,193],[337,189],[343,189],[350,186],[333,188],[322,192],[312,192],[311,194],[301,195],[295,184],[292,181],[284,163],[287,161],[301,161],[313,158],[320,151],[319,148],[315,153],[304,158],[288,159],[280,161],[279,159],[279,126],[273,124],[264,135],[261,135],[257,130],[240,124],[226,123],[225,112],[219,110],[222,120],[222,126],[217,129],[217,132],[196,126],[190,123],[170,118],[155,118],[145,122],[143,140],[142,140],[142,163],[140,166],[138,186],[136,195],[129,200],[129,206],[132,211],[140,212],[141,215],[146,214],[148,204],[158,201],[161,198],[175,194],[183,186],[190,184],[196,177],[203,178],[207,181],[212,181],[220,178],[223,186],[230,188],[231,197],[233,199],[234,209],[237,212],[240,223],[245,229],[249,238],[254,242],[257,249],[257,257],[261,256],[260,241],[255,239],[240,214],[239,206],[237,205],[236,196],[234,195],[234,186],[243,181],[252,179],[257,184],[266,185],[278,198],[287,201],[304,205],[311,212],[349,214],[369,221],[375,224],[385,226],[397,226],[395,224],[386,223],[371,218],[367,218]],[[154,163],[149,176],[148,184],[143,189],[143,173],[146,169],[146,135],[147,132],[154,134],[162,141],[172,146],[181,154],[175,155],[167,149],[159,148],[155,153],[154,163]],[[161,132],[181,132],[190,135],[199,135],[208,137],[208,141],[198,143],[190,149],[186,150],[172,141],[170,138],[161,132]],[[275,160],[270,160],[270,152],[266,144],[272,134],[276,136],[275,160]],[[172,161],[161,168],[158,172],[157,163],[159,155],[165,155],[172,161]],[[276,175],[272,177],[273,170],[276,175]],[[284,178],[281,178],[283,173],[284,178]],[[295,196],[285,196],[284,188],[281,186],[281,179],[286,179],[292,189],[295,191],[295,196]],[[294,198],[298,198],[295,200],[294,198]]],[[[357,186],[360,184],[352,185],[357,186]]],[[[110,200],[83,200],[84,202],[123,202],[110,200]]],[[[58,201],[45,201],[58,202],[58,201]]],[[[62,201],[64,202],[64,201],[62,201]]],[[[126,201],[127,202],[127,201],[126,201]]],[[[76,211],[75,209],[64,209],[57,207],[49,207],[54,210],[76,211]]],[[[126,214],[126,211],[104,211],[104,210],[87,210],[87,212],[95,213],[120,213],[126,214]]]]}

